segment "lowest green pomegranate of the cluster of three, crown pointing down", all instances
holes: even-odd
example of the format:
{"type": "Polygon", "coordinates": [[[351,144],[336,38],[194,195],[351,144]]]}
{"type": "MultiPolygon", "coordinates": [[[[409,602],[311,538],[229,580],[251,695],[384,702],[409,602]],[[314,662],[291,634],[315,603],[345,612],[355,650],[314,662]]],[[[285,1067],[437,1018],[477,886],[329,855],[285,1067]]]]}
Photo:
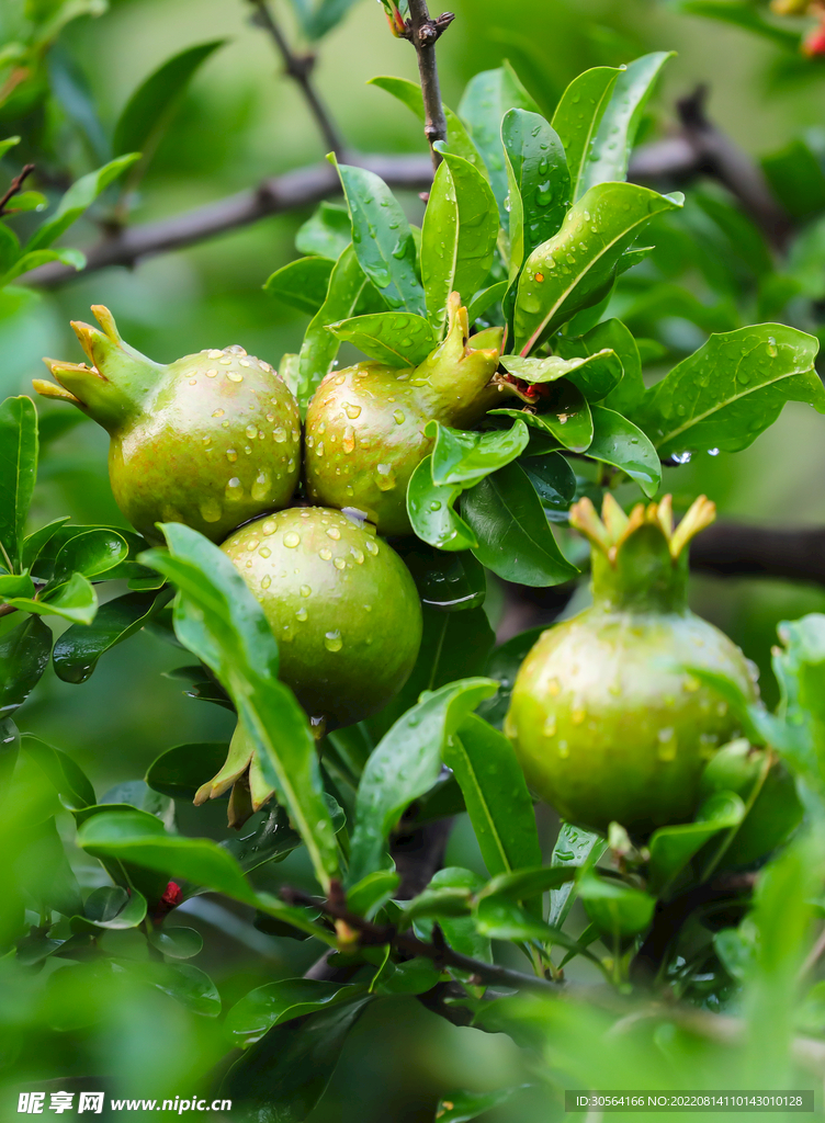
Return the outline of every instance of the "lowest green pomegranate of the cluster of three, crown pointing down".
{"type": "MultiPolygon", "coordinates": [[[[221,549],[261,603],[280,677],[317,728],[377,713],[407,682],[421,642],[420,601],[374,527],[341,511],[292,508],[241,527],[221,549]]],[[[229,822],[237,825],[272,795],[241,724],[196,803],[233,785],[229,822]]]]}

